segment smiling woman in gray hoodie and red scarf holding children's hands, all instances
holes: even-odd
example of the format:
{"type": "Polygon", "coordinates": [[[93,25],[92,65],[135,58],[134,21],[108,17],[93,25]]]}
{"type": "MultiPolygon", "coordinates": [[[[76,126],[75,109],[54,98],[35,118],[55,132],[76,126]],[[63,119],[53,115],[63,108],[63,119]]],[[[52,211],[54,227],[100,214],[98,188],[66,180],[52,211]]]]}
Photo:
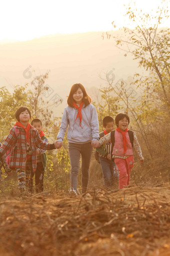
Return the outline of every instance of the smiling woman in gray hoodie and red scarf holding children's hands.
{"type": "Polygon", "coordinates": [[[98,141],[98,118],[95,107],[90,103],[85,88],[80,83],[72,85],[67,104],[64,108],[57,142],[55,147],[60,149],[68,126],[67,140],[71,164],[70,194],[77,195],[77,175],[79,159],[82,158],[82,194],[86,192],[89,178],[89,164],[92,146],[98,141]]]}

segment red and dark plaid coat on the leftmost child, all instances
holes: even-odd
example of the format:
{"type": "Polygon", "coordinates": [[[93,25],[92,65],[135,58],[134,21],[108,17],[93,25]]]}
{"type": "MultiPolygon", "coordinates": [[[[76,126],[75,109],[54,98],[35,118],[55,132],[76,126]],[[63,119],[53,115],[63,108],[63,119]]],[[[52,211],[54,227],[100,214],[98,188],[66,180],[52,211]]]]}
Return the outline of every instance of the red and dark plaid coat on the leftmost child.
{"type": "MultiPolygon", "coordinates": [[[[9,160],[9,168],[11,170],[23,169],[25,170],[26,163],[26,136],[22,127],[15,125],[18,134],[15,135],[15,129],[12,127],[6,137],[3,145],[0,147],[0,155],[4,155],[11,148],[11,155],[9,160]]],[[[50,143],[43,142],[37,130],[30,127],[30,144],[32,150],[32,171],[36,171],[36,148],[50,150],[50,143]]]]}

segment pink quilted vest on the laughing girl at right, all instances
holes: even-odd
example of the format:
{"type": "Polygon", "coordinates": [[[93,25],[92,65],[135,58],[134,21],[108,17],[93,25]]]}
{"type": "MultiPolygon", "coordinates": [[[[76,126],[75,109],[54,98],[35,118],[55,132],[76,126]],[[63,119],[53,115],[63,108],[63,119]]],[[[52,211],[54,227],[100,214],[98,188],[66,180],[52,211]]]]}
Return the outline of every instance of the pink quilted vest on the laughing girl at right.
{"type": "Polygon", "coordinates": [[[133,150],[132,150],[130,139],[129,139],[129,136],[128,136],[127,132],[125,133],[125,137],[127,138],[127,150],[124,154],[123,136],[122,136],[121,133],[115,131],[115,134],[114,134],[115,143],[114,143],[114,148],[113,148],[112,155],[115,155],[115,156],[133,156],[133,150]]]}

